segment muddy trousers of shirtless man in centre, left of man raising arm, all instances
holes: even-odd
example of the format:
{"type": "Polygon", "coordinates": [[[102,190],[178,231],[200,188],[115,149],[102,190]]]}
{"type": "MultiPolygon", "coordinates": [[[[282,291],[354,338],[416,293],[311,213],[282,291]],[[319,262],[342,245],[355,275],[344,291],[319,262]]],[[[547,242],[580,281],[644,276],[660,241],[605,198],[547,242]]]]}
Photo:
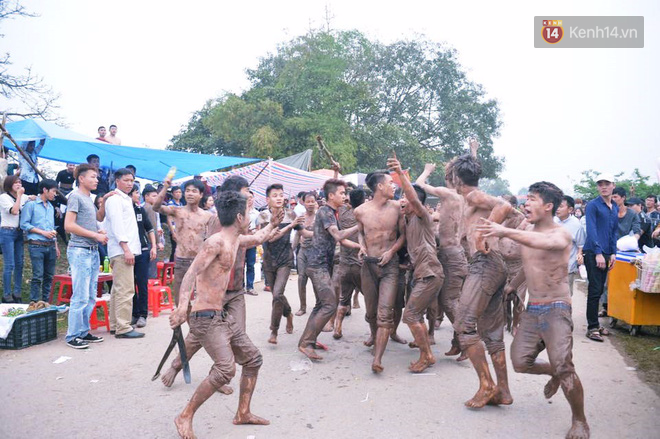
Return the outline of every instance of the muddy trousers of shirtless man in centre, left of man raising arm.
{"type": "Polygon", "coordinates": [[[393,257],[385,266],[377,258],[364,258],[361,271],[362,294],[366,308],[365,320],[381,328],[394,327],[394,304],[399,284],[399,258],[393,257]]]}

